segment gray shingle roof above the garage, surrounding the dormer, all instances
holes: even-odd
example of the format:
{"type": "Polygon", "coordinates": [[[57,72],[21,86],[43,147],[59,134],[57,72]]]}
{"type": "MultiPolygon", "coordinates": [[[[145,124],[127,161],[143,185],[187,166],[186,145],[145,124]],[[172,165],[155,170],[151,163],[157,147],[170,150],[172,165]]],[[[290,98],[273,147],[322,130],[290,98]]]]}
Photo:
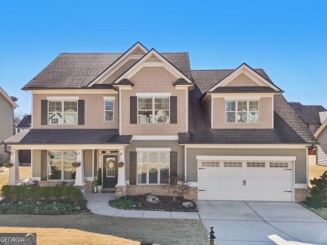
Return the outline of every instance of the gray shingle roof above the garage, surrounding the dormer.
{"type": "MultiPolygon", "coordinates": [[[[235,143],[272,143],[272,144],[317,144],[318,141],[292,110],[281,94],[274,96],[274,128],[273,129],[211,129],[208,112],[200,98],[217,82],[221,81],[232,70],[193,71],[192,77],[197,84],[190,92],[190,132],[179,133],[181,144],[235,144],[235,143]],[[229,72],[229,73],[228,73],[229,72]],[[217,78],[215,75],[217,74],[217,78]],[[206,77],[207,76],[207,77],[206,77]],[[208,81],[206,83],[206,81],[208,81]]],[[[268,76],[262,69],[259,74],[268,76]]],[[[270,79],[268,80],[270,81],[270,79]]]]}

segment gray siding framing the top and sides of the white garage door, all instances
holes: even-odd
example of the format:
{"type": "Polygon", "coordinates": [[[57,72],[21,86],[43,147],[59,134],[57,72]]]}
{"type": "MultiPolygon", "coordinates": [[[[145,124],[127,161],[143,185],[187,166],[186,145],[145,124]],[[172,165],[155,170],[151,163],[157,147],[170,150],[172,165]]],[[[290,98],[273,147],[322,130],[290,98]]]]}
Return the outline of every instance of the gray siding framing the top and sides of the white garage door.
{"type": "Polygon", "coordinates": [[[306,184],[306,149],[209,149],[188,148],[187,150],[187,178],[197,181],[198,167],[196,156],[296,156],[295,184],[306,184]]]}

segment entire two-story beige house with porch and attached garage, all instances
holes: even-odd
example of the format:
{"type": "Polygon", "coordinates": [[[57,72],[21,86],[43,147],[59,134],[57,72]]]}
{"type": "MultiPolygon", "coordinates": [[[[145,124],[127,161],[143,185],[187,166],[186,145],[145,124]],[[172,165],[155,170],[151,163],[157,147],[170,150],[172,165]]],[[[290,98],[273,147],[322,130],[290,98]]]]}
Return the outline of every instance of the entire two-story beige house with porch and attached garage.
{"type": "Polygon", "coordinates": [[[90,191],[102,168],[103,187],[118,196],[167,194],[168,175],[191,182],[192,200],[308,194],[318,141],[263,69],[191,70],[188,53],[136,43],[124,54],[60,54],[22,89],[32,92],[32,127],[3,144],[32,150],[40,185],[90,191]]]}

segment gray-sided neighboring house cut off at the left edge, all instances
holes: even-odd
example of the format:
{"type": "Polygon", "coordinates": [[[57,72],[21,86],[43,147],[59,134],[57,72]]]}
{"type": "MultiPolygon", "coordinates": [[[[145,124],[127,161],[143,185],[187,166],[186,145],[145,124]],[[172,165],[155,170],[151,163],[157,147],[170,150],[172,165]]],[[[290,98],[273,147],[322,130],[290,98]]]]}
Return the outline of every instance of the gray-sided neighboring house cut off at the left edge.
{"type": "MultiPolygon", "coordinates": [[[[0,141],[14,135],[14,109],[18,107],[16,101],[16,97],[10,97],[0,87],[0,141]]],[[[0,163],[7,162],[9,159],[9,154],[4,149],[0,149],[0,163]]]]}

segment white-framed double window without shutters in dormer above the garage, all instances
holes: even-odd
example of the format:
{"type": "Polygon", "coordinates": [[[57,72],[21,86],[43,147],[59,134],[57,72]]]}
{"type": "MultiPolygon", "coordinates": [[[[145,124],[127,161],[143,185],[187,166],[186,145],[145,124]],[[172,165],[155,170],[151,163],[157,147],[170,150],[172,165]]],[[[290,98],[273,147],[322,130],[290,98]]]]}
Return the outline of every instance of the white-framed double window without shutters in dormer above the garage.
{"type": "Polygon", "coordinates": [[[226,123],[258,124],[259,101],[226,101],[226,123]]]}

